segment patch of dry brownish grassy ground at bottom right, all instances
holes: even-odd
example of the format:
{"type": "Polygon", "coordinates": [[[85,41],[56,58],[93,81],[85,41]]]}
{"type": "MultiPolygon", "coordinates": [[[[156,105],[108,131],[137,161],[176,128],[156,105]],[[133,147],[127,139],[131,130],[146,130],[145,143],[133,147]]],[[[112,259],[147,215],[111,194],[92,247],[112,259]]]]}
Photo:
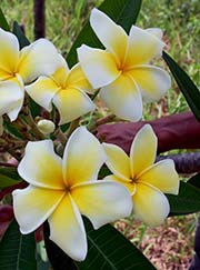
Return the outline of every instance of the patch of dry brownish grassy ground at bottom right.
{"type": "Polygon", "coordinates": [[[119,221],[116,227],[133,242],[158,270],[188,269],[193,256],[197,214],[169,218],[150,229],[142,222],[119,221]]]}

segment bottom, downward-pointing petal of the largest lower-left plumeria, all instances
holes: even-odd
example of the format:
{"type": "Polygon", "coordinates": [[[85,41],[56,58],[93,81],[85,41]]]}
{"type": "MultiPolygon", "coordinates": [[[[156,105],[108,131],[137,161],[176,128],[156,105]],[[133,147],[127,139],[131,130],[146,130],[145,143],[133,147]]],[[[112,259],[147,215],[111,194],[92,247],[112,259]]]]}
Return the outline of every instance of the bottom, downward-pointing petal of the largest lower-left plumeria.
{"type": "Polygon", "coordinates": [[[76,261],[87,256],[87,237],[77,206],[66,196],[49,218],[50,239],[76,261]]]}

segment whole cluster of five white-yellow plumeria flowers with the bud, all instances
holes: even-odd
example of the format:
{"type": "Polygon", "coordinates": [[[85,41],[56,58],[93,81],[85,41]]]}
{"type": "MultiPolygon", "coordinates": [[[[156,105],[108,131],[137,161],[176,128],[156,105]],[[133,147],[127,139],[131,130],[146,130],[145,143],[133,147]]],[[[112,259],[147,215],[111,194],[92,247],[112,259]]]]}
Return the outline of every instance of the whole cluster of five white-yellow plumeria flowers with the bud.
{"type": "MultiPolygon", "coordinates": [[[[167,71],[151,64],[164,47],[160,29],[132,26],[128,36],[97,9],[90,24],[106,49],[82,44],[71,69],[50,41],[20,50],[16,36],[0,29],[0,134],[4,114],[18,119],[24,94],[48,112],[56,108],[61,126],[94,111],[91,97],[98,90],[117,117],[138,121],[142,99],[158,100],[170,88],[167,71]]],[[[37,127],[48,138],[56,129],[41,119],[37,127]]],[[[22,233],[48,220],[50,239],[81,261],[88,250],[81,214],[94,229],[132,211],[150,226],[160,224],[169,213],[163,193],[177,194],[179,179],[172,160],[153,164],[157,137],[150,126],[136,136],[130,157],[114,144],[101,144],[84,127],[76,128],[62,159],[51,139],[28,142],[18,172],[29,186],[13,191],[13,209],[22,233]],[[113,174],[99,179],[103,164],[113,174]]]]}

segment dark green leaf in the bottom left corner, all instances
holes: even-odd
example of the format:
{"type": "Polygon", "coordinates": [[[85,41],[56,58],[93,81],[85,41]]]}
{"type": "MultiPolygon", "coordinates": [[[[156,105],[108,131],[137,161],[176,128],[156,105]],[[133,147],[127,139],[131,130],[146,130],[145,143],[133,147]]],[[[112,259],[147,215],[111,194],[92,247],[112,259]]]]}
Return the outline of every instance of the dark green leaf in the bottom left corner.
{"type": "Polygon", "coordinates": [[[34,233],[22,236],[16,220],[0,242],[0,269],[37,270],[34,233]]]}

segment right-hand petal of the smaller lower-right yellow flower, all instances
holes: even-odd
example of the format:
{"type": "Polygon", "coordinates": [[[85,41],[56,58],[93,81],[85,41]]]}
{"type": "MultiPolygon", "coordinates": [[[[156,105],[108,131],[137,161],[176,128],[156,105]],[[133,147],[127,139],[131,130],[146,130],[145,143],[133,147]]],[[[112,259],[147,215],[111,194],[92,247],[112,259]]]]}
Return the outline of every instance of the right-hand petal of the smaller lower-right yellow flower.
{"type": "Polygon", "coordinates": [[[178,194],[179,177],[174,169],[174,162],[166,159],[148,168],[138,179],[147,182],[164,193],[178,194]]]}

